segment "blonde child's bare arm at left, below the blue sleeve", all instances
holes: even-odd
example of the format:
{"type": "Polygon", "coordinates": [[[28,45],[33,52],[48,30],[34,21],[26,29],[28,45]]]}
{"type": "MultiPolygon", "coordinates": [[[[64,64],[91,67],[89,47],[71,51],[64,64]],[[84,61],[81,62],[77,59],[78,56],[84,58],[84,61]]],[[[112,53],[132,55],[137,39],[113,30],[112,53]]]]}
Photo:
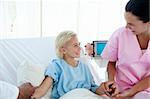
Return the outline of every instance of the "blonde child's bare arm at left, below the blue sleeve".
{"type": "Polygon", "coordinates": [[[51,77],[45,77],[41,85],[35,89],[34,94],[31,99],[39,99],[44,96],[53,83],[53,79],[51,77]]]}

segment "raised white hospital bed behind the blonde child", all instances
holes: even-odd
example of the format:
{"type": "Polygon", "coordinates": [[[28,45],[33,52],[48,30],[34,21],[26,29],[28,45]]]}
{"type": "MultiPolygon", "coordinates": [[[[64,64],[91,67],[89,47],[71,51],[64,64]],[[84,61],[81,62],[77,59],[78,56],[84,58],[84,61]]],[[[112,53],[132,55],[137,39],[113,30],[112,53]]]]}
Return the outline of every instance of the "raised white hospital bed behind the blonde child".
{"type": "MultiPolygon", "coordinates": [[[[0,80],[15,86],[24,82],[31,82],[34,86],[39,85],[44,78],[45,68],[53,58],[56,58],[54,45],[55,37],[1,39],[0,80]]],[[[85,56],[84,53],[80,60],[88,64],[98,85],[106,80],[104,65],[107,62],[99,64],[94,58],[85,56]]],[[[100,63],[103,61],[98,60],[100,63]]]]}

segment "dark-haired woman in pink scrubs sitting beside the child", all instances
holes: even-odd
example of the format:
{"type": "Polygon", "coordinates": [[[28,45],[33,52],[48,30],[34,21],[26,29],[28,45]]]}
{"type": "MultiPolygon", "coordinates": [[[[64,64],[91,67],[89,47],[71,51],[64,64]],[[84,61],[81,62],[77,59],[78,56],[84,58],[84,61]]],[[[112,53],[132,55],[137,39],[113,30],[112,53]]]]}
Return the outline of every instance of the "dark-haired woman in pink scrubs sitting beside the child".
{"type": "MultiPolygon", "coordinates": [[[[108,81],[114,81],[115,99],[150,98],[149,0],[130,0],[125,7],[126,27],[110,37],[102,58],[108,62],[108,81]]],[[[89,44],[88,52],[92,52],[89,44]]]]}

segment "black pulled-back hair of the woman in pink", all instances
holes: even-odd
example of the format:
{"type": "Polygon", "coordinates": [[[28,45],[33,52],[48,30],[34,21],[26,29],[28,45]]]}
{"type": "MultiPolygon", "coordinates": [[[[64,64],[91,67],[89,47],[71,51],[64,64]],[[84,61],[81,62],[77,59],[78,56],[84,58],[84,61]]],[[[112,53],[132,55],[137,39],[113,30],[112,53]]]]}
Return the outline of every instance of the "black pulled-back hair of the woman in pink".
{"type": "Polygon", "coordinates": [[[126,7],[126,12],[131,12],[144,23],[149,22],[149,0],[130,0],[126,7]]]}

